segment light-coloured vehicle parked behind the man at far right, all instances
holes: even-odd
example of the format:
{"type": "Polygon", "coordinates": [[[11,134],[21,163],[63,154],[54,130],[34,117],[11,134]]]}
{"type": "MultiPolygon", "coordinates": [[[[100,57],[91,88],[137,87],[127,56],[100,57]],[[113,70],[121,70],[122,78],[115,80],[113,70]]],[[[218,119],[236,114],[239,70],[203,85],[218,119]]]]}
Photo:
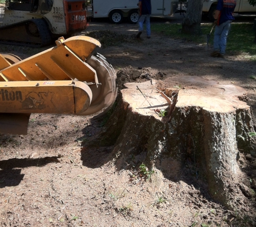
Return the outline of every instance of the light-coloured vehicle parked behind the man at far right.
{"type": "MultiPolygon", "coordinates": [[[[217,7],[218,0],[204,0],[203,3],[203,16],[207,16],[209,20],[215,20],[213,15],[217,7]]],[[[254,15],[256,14],[256,6],[252,6],[248,3],[248,0],[237,0],[237,6],[234,9],[234,13],[240,15],[254,15]]]]}

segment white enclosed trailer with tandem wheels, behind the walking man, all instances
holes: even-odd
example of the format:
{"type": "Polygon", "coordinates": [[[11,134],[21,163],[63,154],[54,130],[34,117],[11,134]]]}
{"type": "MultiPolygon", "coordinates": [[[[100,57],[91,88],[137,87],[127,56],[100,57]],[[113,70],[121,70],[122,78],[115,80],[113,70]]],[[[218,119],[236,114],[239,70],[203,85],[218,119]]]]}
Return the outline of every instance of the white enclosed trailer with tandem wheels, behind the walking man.
{"type": "MultiPolygon", "coordinates": [[[[137,3],[139,0],[91,0],[93,18],[109,17],[115,24],[128,17],[130,23],[139,19],[137,3]]],[[[151,0],[151,16],[170,16],[178,9],[178,0],[151,0]]]]}

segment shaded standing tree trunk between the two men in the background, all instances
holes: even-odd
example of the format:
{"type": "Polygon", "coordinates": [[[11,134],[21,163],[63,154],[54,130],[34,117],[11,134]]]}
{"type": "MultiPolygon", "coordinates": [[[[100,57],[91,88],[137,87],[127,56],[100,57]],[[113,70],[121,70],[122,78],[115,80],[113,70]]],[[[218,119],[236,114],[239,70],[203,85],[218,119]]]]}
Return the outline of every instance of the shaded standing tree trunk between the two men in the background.
{"type": "Polygon", "coordinates": [[[182,22],[182,32],[189,34],[202,34],[200,23],[202,20],[203,0],[188,1],[185,18],[182,22]]]}

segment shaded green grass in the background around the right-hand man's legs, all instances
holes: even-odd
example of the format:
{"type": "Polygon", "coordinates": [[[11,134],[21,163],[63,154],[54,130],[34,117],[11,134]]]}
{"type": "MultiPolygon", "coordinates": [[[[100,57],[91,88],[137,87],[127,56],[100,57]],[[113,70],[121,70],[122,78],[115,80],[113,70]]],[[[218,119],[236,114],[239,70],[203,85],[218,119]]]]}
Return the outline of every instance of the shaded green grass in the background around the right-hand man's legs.
{"type": "MultiPolygon", "coordinates": [[[[182,39],[192,41],[198,44],[206,45],[206,34],[209,34],[212,24],[202,24],[202,35],[191,36],[190,34],[181,33],[181,24],[152,24],[151,30],[155,33],[164,34],[173,39],[182,39]]],[[[213,33],[211,34],[209,44],[213,45],[213,33]]],[[[251,56],[251,60],[256,60],[256,44],[254,44],[255,32],[253,23],[232,24],[229,37],[227,39],[227,52],[234,54],[246,53],[251,56]]]]}

